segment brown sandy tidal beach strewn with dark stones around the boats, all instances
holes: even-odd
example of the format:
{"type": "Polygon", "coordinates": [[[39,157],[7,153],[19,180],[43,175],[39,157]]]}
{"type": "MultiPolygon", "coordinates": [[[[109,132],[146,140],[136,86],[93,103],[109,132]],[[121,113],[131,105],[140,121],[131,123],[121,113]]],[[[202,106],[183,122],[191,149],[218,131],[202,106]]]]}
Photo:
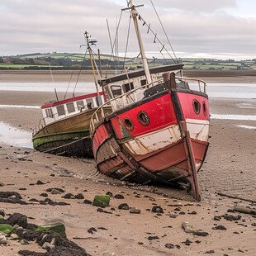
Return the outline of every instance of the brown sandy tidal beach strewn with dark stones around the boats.
{"type": "MultiPolygon", "coordinates": [[[[67,81],[66,75],[59,73],[56,80],[67,81]]],[[[207,73],[194,76],[206,82],[256,82],[251,73],[232,77],[210,77],[207,73]]],[[[90,75],[85,77],[85,81],[91,79],[90,75]]],[[[51,81],[45,73],[0,72],[1,83],[48,79],[51,81]]],[[[0,91],[0,105],[40,106],[52,97],[50,92],[0,91]]],[[[210,106],[214,114],[255,115],[256,112],[255,99],[212,98],[210,106]]],[[[39,108],[0,107],[0,121],[21,130],[31,132],[40,116],[39,108]]],[[[140,186],[107,178],[97,172],[92,159],[66,158],[0,143],[0,192],[18,192],[28,203],[1,201],[0,210],[9,215],[17,212],[26,215],[36,225],[62,222],[68,239],[90,255],[253,256],[256,216],[234,211],[234,206],[256,208],[255,126],[256,121],[211,120],[210,149],[199,173],[201,202],[175,188],[140,186]],[[64,192],[55,194],[49,192],[50,188],[64,192]],[[107,192],[113,196],[104,211],[84,201],[107,192]],[[47,195],[42,196],[44,193],[47,195]],[[83,194],[83,199],[64,198],[67,193],[83,194]],[[36,202],[45,198],[67,205],[36,202]],[[140,209],[140,214],[118,209],[122,203],[140,209]],[[160,206],[164,212],[153,212],[154,206],[160,206]],[[185,232],[184,221],[198,234],[185,232]]],[[[17,240],[7,239],[6,245],[0,244],[1,255],[20,255],[19,250],[45,252],[36,242],[21,245],[17,240]]]]}

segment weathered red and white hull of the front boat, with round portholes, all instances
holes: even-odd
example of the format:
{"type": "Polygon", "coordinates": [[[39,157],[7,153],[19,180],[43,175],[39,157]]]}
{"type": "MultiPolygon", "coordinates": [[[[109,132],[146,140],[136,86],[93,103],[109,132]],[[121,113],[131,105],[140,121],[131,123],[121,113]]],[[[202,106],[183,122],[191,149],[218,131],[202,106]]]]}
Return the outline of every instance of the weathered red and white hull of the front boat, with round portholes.
{"type": "Polygon", "coordinates": [[[200,194],[197,172],[208,134],[206,94],[165,91],[105,118],[94,132],[92,149],[97,168],[107,176],[132,183],[193,184],[200,194]],[[146,118],[140,119],[141,113],[146,118]]]}

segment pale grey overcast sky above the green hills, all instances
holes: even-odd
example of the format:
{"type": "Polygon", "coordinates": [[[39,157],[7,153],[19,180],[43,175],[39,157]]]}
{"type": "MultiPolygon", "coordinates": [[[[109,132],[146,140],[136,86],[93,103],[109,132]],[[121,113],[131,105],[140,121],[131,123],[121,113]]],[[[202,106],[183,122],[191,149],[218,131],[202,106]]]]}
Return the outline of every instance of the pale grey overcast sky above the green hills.
{"type": "MultiPolygon", "coordinates": [[[[133,0],[140,16],[168,41],[150,0],[133,0]]],[[[153,0],[168,39],[178,57],[216,56],[256,58],[255,0],[153,0]]],[[[84,31],[97,38],[97,46],[111,53],[107,31],[115,36],[116,24],[126,0],[0,0],[0,55],[26,53],[77,53],[84,44],[84,31]]],[[[140,28],[149,58],[159,49],[146,26],[140,28]]],[[[129,14],[122,13],[119,52],[125,51],[129,14]]],[[[132,31],[134,27],[132,26],[132,31]]],[[[130,37],[133,33],[130,32],[130,37]]],[[[138,52],[131,39],[128,51],[138,52]]]]}

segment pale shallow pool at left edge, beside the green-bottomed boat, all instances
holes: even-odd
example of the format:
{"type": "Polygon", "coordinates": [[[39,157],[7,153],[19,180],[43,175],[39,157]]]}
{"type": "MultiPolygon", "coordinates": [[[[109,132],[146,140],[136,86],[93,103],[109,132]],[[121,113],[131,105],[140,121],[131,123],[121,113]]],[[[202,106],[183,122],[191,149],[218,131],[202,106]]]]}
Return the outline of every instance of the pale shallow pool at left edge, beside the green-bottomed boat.
{"type": "Polygon", "coordinates": [[[17,129],[0,121],[0,141],[7,145],[33,148],[32,135],[25,130],[17,129]]]}

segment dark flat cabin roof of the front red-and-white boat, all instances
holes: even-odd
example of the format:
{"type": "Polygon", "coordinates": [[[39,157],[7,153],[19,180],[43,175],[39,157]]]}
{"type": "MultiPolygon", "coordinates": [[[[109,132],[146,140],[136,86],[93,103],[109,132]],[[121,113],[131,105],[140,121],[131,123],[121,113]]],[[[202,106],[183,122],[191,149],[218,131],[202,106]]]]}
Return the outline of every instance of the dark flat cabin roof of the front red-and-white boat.
{"type": "MultiPolygon", "coordinates": [[[[149,69],[149,73],[164,73],[164,72],[169,72],[169,71],[178,70],[178,69],[183,69],[183,64],[171,64],[171,65],[158,66],[158,67],[149,69]]],[[[126,80],[128,77],[136,78],[143,75],[145,75],[145,70],[140,69],[140,70],[130,71],[128,74],[121,73],[111,78],[100,79],[98,80],[98,82],[101,86],[104,86],[104,85],[107,85],[108,83],[115,83],[118,81],[126,80]]]]}

